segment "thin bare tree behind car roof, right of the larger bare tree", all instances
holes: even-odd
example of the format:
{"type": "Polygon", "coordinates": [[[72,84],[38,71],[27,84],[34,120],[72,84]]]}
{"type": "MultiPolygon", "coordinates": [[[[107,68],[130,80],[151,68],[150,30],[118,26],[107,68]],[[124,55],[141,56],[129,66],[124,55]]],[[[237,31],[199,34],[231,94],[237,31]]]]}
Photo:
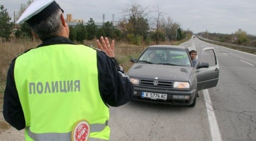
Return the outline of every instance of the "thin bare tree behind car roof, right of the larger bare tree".
{"type": "MultiPolygon", "coordinates": [[[[159,5],[156,6],[156,16],[153,17],[153,25],[156,27],[156,44],[158,44],[158,30],[161,26],[161,18],[166,15],[166,13],[160,11],[159,5]]],[[[163,18],[162,18],[163,19],[163,18]]]]}

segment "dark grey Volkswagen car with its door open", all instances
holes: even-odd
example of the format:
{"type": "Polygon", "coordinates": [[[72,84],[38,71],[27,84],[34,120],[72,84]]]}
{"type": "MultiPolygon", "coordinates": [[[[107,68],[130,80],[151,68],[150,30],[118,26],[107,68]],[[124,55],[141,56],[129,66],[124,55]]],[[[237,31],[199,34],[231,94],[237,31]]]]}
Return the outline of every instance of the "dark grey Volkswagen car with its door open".
{"type": "Polygon", "coordinates": [[[143,51],[129,69],[133,100],[172,105],[196,105],[197,91],[215,87],[219,65],[213,48],[204,48],[193,67],[183,46],[153,45],[143,51]],[[148,61],[154,51],[158,62],[148,61]]]}

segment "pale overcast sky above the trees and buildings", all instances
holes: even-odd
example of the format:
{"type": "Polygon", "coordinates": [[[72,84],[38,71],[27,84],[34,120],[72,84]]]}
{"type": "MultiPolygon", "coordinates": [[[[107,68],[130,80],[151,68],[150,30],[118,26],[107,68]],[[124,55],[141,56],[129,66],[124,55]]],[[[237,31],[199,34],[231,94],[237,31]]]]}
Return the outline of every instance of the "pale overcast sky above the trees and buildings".
{"type": "MultiPolygon", "coordinates": [[[[17,13],[20,4],[28,0],[0,0],[10,17],[17,13]]],[[[123,9],[129,8],[132,2],[143,8],[164,12],[164,18],[171,17],[180,23],[181,28],[194,33],[208,31],[210,33],[232,34],[239,28],[247,34],[256,35],[256,0],[55,0],[64,10],[64,15],[72,14],[73,19],[92,18],[95,22],[119,21],[123,18],[123,9]]],[[[156,12],[150,14],[156,17],[156,12]]]]}

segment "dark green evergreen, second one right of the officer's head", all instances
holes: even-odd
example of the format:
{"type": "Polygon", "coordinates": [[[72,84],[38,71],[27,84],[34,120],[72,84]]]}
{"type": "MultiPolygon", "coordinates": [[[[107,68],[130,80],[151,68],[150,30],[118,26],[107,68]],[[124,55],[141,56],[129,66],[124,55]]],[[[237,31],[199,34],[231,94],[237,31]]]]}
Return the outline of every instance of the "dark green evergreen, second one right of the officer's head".
{"type": "Polygon", "coordinates": [[[76,31],[76,41],[83,43],[87,37],[87,31],[83,23],[77,23],[75,27],[75,31],[76,31]]]}

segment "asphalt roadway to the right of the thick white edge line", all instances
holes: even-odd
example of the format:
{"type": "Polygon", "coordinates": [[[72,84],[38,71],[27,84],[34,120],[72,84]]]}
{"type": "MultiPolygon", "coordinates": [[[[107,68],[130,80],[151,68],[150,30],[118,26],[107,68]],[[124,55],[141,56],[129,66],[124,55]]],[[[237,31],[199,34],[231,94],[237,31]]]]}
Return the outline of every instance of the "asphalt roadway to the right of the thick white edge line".
{"type": "Polygon", "coordinates": [[[256,55],[194,42],[196,50],[214,47],[220,65],[217,87],[209,89],[223,141],[256,140],[256,55]]]}

